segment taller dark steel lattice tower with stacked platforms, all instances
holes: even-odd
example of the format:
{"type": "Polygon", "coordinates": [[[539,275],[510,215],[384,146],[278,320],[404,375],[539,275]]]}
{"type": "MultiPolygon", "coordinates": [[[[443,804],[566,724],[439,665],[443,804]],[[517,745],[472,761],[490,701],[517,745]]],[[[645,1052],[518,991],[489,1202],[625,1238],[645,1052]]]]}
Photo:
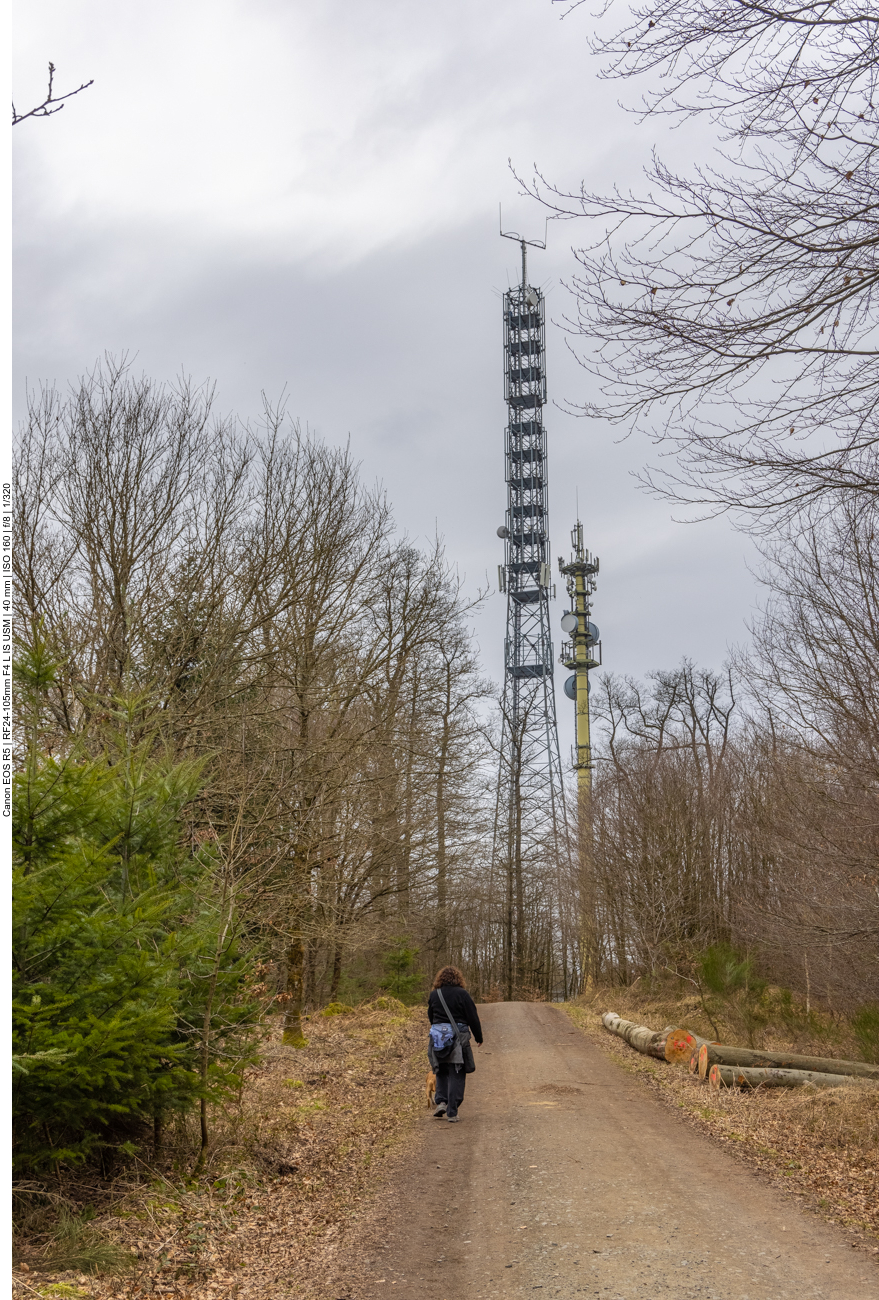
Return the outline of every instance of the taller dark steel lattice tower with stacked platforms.
{"type": "Polygon", "coordinates": [[[533,961],[527,931],[537,920],[544,933],[557,935],[553,900],[567,832],[549,621],[546,330],[544,295],[528,283],[527,260],[528,247],[546,244],[505,238],[521,247],[521,283],[503,295],[507,512],[498,529],[505,543],[498,585],[507,597],[507,630],[493,862],[506,881],[503,956],[511,997],[523,966],[533,961]]]}

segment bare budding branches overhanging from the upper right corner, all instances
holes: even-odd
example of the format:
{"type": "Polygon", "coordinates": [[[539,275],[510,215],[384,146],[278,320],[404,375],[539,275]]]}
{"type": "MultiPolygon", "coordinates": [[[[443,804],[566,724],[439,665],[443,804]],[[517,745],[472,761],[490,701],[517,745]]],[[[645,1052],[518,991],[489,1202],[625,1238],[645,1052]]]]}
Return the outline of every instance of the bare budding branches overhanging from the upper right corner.
{"type": "Polygon", "coordinates": [[[750,526],[879,490],[878,34],[854,0],[637,6],[593,42],[603,74],[646,75],[648,120],[710,118],[719,161],[654,156],[641,196],[528,186],[596,231],[570,285],[603,386],[581,410],[674,454],[655,490],[750,526]]]}

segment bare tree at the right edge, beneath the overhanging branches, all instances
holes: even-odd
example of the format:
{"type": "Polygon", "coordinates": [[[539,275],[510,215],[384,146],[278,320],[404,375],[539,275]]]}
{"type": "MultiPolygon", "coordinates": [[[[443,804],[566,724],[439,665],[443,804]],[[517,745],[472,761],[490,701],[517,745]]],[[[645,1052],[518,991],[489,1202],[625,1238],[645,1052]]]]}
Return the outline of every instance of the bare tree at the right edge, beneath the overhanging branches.
{"type": "Polygon", "coordinates": [[[766,863],[752,932],[792,983],[828,1000],[879,994],[879,549],[875,503],[849,494],[767,547],[770,599],[742,662],[766,863]],[[820,975],[819,975],[820,972],[820,975]]]}

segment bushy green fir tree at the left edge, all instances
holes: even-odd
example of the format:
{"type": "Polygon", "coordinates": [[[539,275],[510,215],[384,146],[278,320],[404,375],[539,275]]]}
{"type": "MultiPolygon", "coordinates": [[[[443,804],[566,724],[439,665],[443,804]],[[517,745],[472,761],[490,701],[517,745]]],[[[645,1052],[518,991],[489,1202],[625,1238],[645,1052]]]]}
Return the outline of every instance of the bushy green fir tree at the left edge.
{"type": "Polygon", "coordinates": [[[13,819],[16,1166],[130,1149],[150,1124],[235,1087],[252,1008],[234,916],[220,915],[209,853],[182,842],[194,764],[114,744],[88,757],[40,749],[53,666],[18,666],[26,753],[13,819]],[[207,1015],[205,1015],[207,1013],[207,1015]],[[226,1050],[221,1049],[225,1043],[226,1050]]]}

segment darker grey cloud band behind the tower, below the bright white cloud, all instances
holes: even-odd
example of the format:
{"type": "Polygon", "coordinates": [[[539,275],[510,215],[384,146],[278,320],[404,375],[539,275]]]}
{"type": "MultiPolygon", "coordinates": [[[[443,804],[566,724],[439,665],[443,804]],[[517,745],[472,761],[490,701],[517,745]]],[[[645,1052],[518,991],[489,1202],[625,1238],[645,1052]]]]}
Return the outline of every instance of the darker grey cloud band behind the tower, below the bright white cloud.
{"type": "MultiPolygon", "coordinates": [[[[532,266],[558,274],[564,260],[557,247],[532,266]]],[[[402,530],[424,538],[437,529],[472,586],[486,576],[495,585],[505,407],[492,285],[507,270],[516,272],[516,248],[490,221],[335,274],[259,261],[241,246],[183,247],[168,231],[66,229],[18,259],[18,406],[23,376],[66,382],[104,350],[137,354],[138,368],[163,378],[211,377],[220,406],[242,417],[259,412],[263,390],[270,399],[286,391],[303,424],[330,442],[351,439],[402,530]]],[[[558,318],[563,290],[549,302],[558,318]]],[[[547,363],[550,395],[583,399],[588,376],[553,326],[547,363]]],[[[546,424],[553,551],[567,551],[579,493],[588,545],[602,558],[606,666],[641,673],[683,654],[719,663],[753,603],[745,541],[723,521],[671,523],[632,480],[649,455],[644,442],[618,442],[607,425],[555,408],[546,424]]],[[[494,595],[477,620],[495,676],[502,606],[494,595]]]]}

